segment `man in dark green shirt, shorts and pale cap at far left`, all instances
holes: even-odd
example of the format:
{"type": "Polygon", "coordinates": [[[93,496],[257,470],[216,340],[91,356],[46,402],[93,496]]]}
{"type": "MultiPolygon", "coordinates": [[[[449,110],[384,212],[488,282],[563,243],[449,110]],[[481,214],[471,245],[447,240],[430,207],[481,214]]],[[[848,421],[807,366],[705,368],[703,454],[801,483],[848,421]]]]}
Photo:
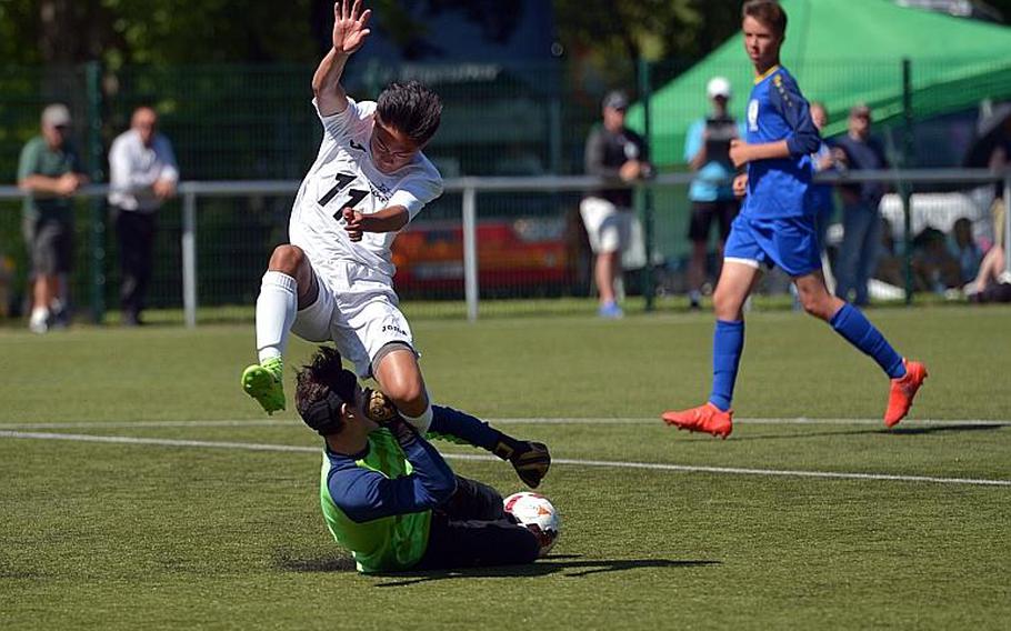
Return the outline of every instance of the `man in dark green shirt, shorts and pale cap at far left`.
{"type": "Polygon", "coordinates": [[[32,263],[32,309],[28,327],[44,333],[66,325],[62,283],[73,260],[71,197],[88,183],[81,160],[69,142],[70,110],[53,103],[42,110],[42,134],[28,141],[18,161],[18,187],[24,198],[23,229],[32,263]]]}

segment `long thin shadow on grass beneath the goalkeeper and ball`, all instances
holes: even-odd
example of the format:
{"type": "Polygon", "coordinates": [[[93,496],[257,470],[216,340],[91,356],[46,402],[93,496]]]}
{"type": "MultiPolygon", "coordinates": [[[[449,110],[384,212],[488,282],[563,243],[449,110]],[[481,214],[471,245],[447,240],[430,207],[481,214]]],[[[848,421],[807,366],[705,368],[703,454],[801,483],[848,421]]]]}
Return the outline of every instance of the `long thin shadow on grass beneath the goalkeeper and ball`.
{"type": "Polygon", "coordinates": [[[527,565],[499,565],[494,568],[460,568],[456,570],[407,571],[381,574],[382,578],[400,579],[377,583],[377,588],[399,588],[442,581],[446,579],[490,579],[504,577],[547,577],[560,573],[563,577],[588,577],[604,572],[621,572],[642,568],[689,568],[695,565],[719,565],[722,561],[673,561],[670,559],[588,559],[579,554],[552,554],[527,565]]]}

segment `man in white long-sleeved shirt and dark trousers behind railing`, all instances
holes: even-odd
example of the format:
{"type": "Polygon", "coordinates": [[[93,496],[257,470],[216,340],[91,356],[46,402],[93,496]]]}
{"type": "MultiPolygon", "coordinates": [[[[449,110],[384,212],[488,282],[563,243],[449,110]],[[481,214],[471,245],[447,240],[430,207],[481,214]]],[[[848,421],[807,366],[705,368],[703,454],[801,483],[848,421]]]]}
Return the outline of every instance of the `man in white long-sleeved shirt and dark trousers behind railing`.
{"type": "Polygon", "coordinates": [[[174,197],[179,169],[169,139],[156,131],[158,114],[144,106],[133,111],[130,129],[109,150],[109,204],[119,240],[120,304],[126,325],[141,323],[154,244],[156,212],[174,197]]]}

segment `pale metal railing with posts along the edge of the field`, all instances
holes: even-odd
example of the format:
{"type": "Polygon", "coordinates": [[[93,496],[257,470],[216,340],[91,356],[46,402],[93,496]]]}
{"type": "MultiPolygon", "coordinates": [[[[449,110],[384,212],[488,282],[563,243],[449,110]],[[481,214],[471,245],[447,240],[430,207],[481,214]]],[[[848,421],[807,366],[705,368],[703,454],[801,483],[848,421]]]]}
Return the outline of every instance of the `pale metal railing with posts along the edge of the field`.
{"type": "MultiPolygon", "coordinates": [[[[687,186],[693,173],[664,173],[637,184],[642,188],[687,186]]],[[[888,171],[849,171],[820,173],[815,181],[824,183],[884,182],[891,184],[983,184],[1003,181],[1005,203],[1011,200],[1011,170],[1003,172],[985,169],[892,169],[888,171]]],[[[197,325],[197,198],[236,196],[294,196],[298,180],[252,180],[181,182],[178,191],[182,198],[182,302],[187,327],[197,325]]],[[[619,184],[620,186],[620,184],[619,184]]],[[[537,178],[452,178],[444,182],[446,192],[462,193],[461,219],[463,224],[463,284],[469,320],[478,318],[478,193],[481,192],[562,192],[614,188],[597,177],[537,177],[537,178]]],[[[108,184],[92,184],[81,189],[77,197],[106,197],[108,184]]],[[[24,191],[17,187],[0,187],[0,200],[22,199],[24,191]]],[[[908,213],[908,209],[905,210],[908,213]]],[[[1005,213],[1007,216],[1007,213],[1005,213]]],[[[1011,244],[1011,220],[1004,220],[1004,247],[1011,244]]],[[[264,257],[267,253],[264,252],[264,257]]],[[[1011,272],[1011,257],[1004,257],[1011,272]]]]}

